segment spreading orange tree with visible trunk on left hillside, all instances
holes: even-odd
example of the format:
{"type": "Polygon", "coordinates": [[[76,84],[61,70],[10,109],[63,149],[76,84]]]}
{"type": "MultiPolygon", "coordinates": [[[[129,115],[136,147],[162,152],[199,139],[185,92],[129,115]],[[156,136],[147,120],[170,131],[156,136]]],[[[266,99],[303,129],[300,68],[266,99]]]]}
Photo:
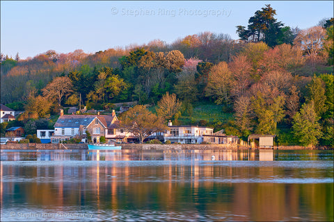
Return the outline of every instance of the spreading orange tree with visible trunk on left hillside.
{"type": "Polygon", "coordinates": [[[51,83],[47,84],[47,86],[42,89],[43,95],[49,99],[56,98],[58,101],[58,105],[61,106],[61,100],[63,96],[73,92],[72,83],[70,78],[66,76],[56,77],[51,83]]]}

